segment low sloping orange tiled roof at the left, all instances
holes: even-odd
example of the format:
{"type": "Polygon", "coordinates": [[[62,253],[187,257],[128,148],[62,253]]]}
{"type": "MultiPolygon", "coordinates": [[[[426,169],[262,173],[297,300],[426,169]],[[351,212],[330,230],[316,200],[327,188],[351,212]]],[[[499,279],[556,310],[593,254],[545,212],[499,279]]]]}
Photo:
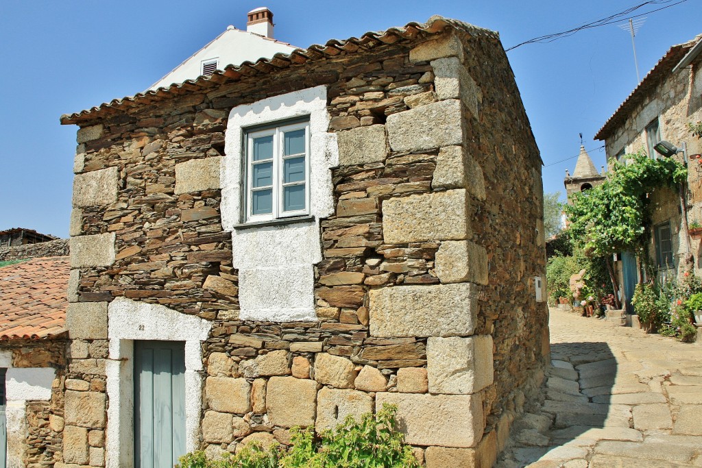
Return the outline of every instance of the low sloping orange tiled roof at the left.
{"type": "Polygon", "coordinates": [[[0,340],[65,333],[69,273],[68,257],[0,267],[0,340]]]}

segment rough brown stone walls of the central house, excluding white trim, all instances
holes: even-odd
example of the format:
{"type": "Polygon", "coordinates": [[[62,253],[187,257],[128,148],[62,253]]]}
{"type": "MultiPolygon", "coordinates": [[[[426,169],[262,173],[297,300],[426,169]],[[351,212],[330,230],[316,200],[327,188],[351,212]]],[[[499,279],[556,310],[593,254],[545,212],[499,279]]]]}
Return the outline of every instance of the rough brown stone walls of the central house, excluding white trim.
{"type": "Polygon", "coordinates": [[[534,300],[541,160],[496,36],[449,29],[184,91],[81,128],[79,144],[66,463],[104,464],[91,434],[104,440],[107,302],[119,296],[212,321],[211,454],[288,443],[294,425],[333,427],[388,402],[427,466],[494,460],[548,353],[534,300]],[[336,213],[321,222],[319,321],[239,321],[221,191],[212,171],[178,164],[223,156],[228,109],[320,84],[340,164],[336,213]]]}

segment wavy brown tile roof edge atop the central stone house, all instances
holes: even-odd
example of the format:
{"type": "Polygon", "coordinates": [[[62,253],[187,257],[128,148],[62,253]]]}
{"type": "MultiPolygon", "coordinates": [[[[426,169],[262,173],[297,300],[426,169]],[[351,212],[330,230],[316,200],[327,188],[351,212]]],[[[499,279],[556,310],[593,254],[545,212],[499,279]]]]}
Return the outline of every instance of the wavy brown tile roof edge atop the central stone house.
{"type": "Polygon", "coordinates": [[[130,107],[148,105],[192,91],[208,92],[211,88],[215,88],[222,83],[237,81],[242,76],[270,74],[278,69],[304,65],[315,60],[326,60],[342,54],[367,51],[383,44],[395,44],[399,41],[409,42],[422,36],[422,33],[438,34],[446,27],[461,29],[476,37],[499,39],[499,34],[490,29],[483,29],[482,27],[469,25],[450,18],[443,18],[442,16],[432,16],[426,23],[409,22],[402,27],[391,27],[385,31],[366,32],[360,38],[350,37],[342,41],[331,39],[324,46],[312,44],[306,49],[298,48],[289,54],[277,53],[272,58],[260,58],[255,63],[244,62],[238,66],[227,65],[223,70],[218,70],[210,76],[199,76],[197,79],[189,79],[183,83],[173,83],[168,88],[157,88],[126,98],[104,102],[98,107],[92,107],[74,114],[64,114],[61,116],[60,121],[63,124],[89,122],[96,116],[107,115],[110,111],[124,112],[130,107]]]}

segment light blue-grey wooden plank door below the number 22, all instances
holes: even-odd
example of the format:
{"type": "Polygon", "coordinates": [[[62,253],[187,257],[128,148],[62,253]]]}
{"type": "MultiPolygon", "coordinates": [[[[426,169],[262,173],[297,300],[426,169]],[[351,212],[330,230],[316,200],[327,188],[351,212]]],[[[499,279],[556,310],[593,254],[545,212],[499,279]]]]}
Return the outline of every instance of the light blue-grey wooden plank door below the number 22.
{"type": "Polygon", "coordinates": [[[134,343],[134,466],[173,468],[185,454],[185,343],[134,343]]]}

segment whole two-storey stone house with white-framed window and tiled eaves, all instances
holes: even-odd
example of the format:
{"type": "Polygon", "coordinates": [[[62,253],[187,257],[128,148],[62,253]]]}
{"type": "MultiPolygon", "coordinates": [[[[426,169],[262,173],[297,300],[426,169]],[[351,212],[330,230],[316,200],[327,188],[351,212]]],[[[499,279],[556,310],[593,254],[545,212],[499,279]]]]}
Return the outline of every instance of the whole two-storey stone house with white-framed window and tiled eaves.
{"type": "Polygon", "coordinates": [[[538,398],[542,163],[495,32],[432,17],[61,122],[60,466],[172,466],[393,403],[428,467],[486,467],[538,398]]]}

